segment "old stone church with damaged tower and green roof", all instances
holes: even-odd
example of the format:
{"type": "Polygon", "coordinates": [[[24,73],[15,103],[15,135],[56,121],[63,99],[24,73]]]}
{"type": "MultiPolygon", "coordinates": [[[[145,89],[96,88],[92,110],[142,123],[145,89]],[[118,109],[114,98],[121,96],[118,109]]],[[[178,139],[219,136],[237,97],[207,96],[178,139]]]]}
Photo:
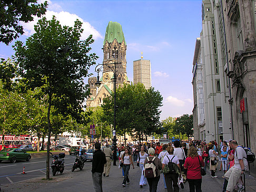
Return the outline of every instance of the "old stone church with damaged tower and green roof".
{"type": "Polygon", "coordinates": [[[99,89],[95,83],[96,77],[88,78],[91,95],[86,101],[87,107],[96,107],[103,104],[103,99],[110,96],[114,90],[114,63],[116,63],[116,88],[124,83],[130,83],[126,73],[126,42],[122,26],[117,22],[107,25],[103,45],[103,73],[99,89]]]}

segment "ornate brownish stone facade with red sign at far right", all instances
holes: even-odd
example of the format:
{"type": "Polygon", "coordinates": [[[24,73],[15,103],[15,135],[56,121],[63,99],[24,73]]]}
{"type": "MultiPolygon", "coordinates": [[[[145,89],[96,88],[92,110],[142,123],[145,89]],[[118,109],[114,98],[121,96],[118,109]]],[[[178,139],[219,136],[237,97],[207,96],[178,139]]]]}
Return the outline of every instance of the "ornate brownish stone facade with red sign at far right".
{"type": "MultiPolygon", "coordinates": [[[[223,1],[233,138],[256,153],[256,1],[223,1]]],[[[250,164],[256,176],[255,162],[250,164]]]]}

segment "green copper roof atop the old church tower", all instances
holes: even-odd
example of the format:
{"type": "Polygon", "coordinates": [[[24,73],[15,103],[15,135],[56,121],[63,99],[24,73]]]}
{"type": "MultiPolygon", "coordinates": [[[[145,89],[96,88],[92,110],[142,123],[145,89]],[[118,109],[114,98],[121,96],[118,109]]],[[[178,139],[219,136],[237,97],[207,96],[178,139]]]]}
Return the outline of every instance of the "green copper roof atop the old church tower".
{"type": "Polygon", "coordinates": [[[106,28],[104,44],[106,41],[112,43],[114,39],[116,39],[118,43],[122,43],[122,41],[124,41],[124,44],[126,45],[122,26],[117,22],[109,22],[109,25],[107,25],[106,28]]]}

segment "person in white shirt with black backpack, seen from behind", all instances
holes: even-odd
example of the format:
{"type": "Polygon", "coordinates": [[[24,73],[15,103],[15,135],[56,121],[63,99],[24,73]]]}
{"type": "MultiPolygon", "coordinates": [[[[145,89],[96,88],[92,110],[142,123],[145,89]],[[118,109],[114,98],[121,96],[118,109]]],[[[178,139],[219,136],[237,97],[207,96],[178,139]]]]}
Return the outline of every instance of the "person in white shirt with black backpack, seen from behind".
{"type": "Polygon", "coordinates": [[[168,165],[170,171],[169,173],[164,175],[166,187],[168,192],[179,192],[180,188],[178,185],[178,178],[179,174],[175,170],[175,166],[173,164],[176,164],[176,166],[180,167],[180,161],[179,158],[173,155],[173,147],[169,146],[167,148],[167,151],[170,155],[166,155],[162,162],[162,169],[164,169],[165,165],[168,165]]]}

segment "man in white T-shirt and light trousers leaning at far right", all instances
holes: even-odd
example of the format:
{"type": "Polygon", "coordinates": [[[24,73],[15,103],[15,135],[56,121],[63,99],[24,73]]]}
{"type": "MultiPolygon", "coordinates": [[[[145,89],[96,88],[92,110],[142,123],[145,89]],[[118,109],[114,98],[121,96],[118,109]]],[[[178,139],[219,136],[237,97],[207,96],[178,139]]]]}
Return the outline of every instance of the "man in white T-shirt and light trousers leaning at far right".
{"type": "MultiPolygon", "coordinates": [[[[235,152],[234,152],[234,165],[224,175],[225,180],[224,180],[223,190],[225,190],[225,186],[227,186],[227,190],[226,190],[227,192],[233,191],[241,175],[244,174],[244,171],[249,170],[247,153],[245,153],[245,150],[243,149],[243,147],[239,146],[237,141],[235,140],[232,140],[232,142],[230,143],[230,147],[234,149],[235,152]]],[[[238,187],[239,189],[243,188],[241,184],[238,187]]]]}

